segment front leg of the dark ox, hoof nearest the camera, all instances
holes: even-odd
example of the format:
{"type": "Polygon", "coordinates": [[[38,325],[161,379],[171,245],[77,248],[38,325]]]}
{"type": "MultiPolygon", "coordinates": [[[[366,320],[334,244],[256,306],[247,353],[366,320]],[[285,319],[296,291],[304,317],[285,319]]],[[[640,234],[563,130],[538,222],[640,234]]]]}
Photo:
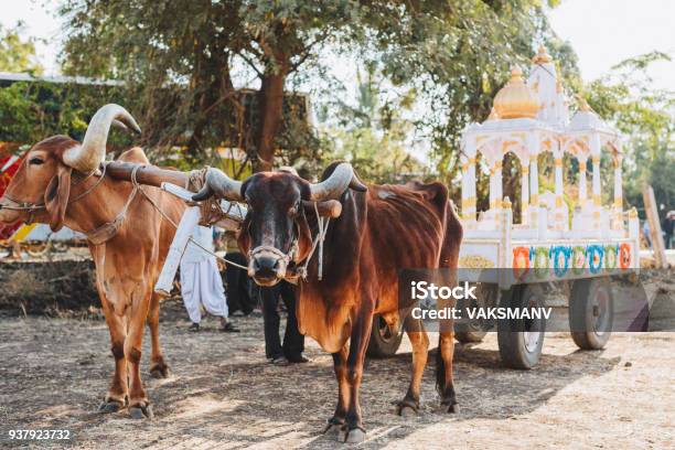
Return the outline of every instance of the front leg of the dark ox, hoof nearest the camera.
{"type": "Polygon", "coordinates": [[[371,338],[371,328],[373,326],[374,303],[374,301],[364,299],[362,304],[367,307],[355,314],[352,325],[350,353],[346,364],[350,404],[347,406],[343,433],[340,435],[341,440],[347,443],[362,442],[365,439],[366,433],[361,417],[358,392],[361,389],[361,381],[363,379],[363,363],[365,361],[365,353],[368,346],[368,340],[371,338]]]}

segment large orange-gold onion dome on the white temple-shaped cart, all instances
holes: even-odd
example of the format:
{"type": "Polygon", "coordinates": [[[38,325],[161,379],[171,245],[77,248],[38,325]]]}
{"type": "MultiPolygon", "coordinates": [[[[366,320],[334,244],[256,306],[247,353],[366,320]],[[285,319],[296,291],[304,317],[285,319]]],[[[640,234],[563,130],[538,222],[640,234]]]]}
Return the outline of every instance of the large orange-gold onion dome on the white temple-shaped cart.
{"type": "Polygon", "coordinates": [[[511,81],[494,97],[494,109],[502,119],[534,119],[540,105],[537,95],[523,81],[519,67],[511,69],[511,81]]]}

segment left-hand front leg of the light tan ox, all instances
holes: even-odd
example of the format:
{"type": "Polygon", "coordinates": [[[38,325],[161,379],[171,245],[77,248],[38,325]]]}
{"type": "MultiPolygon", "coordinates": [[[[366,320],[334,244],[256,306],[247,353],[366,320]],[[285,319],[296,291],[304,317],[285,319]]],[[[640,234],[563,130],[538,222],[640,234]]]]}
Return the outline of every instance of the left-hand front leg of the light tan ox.
{"type": "Polygon", "coordinates": [[[126,406],[128,399],[127,360],[125,357],[126,324],[125,317],[118,314],[104,296],[100,296],[110,332],[110,351],[115,357],[115,373],[104,401],[99,406],[101,413],[116,413],[126,406]]]}

